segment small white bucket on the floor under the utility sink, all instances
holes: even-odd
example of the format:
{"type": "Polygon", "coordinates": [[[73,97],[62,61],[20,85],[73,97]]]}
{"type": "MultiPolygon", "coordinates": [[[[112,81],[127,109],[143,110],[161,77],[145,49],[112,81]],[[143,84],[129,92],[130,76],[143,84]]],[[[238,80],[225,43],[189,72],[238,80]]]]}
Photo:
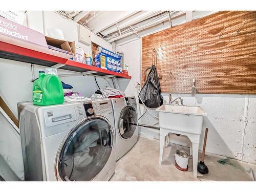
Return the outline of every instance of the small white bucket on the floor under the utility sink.
{"type": "Polygon", "coordinates": [[[177,150],[175,152],[175,166],[182,170],[183,172],[186,172],[188,169],[188,154],[187,152],[183,150],[177,150]]]}

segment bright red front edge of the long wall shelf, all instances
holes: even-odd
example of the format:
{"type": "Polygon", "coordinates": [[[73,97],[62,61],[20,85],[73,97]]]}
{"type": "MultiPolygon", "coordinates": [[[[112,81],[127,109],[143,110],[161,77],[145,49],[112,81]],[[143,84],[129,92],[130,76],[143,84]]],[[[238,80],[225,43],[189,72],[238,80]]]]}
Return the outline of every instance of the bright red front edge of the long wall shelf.
{"type": "Polygon", "coordinates": [[[123,77],[123,78],[127,78],[127,79],[132,78],[129,75],[125,75],[122,73],[116,73],[114,71],[110,71],[110,70],[106,70],[106,69],[102,69],[102,68],[98,68],[98,67],[94,67],[94,66],[89,66],[89,65],[86,65],[86,64],[83,64],[80,62],[76,62],[73,60],[69,60],[66,58],[62,58],[62,57],[50,55],[47,53],[42,53],[39,51],[35,51],[35,50],[19,47],[16,45],[8,44],[7,42],[3,42],[3,41],[0,41],[0,51],[6,51],[6,52],[14,53],[17,55],[24,55],[27,57],[32,57],[32,58],[41,59],[41,60],[47,60],[47,61],[51,61],[51,62],[57,62],[57,63],[65,64],[67,66],[73,66],[73,67],[86,69],[86,70],[90,70],[90,71],[97,71],[97,72],[105,73],[108,75],[115,75],[115,76],[123,77]]]}

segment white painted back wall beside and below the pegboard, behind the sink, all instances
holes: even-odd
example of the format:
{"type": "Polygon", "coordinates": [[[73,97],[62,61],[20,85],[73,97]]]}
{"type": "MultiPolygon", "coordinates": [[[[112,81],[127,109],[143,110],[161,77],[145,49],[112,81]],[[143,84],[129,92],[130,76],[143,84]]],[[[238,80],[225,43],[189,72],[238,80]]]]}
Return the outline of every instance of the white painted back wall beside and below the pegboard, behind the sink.
{"type": "MultiPolygon", "coordinates": [[[[126,95],[136,95],[136,82],[141,79],[140,39],[117,46],[117,50],[124,52],[124,62],[129,65],[129,74],[132,76],[130,82],[119,80],[122,82],[121,89],[126,95]]],[[[168,94],[162,95],[168,102],[168,94]]],[[[199,105],[208,114],[203,123],[203,130],[206,127],[209,129],[207,152],[256,163],[256,95],[196,94],[193,97],[190,94],[172,94],[172,97],[182,97],[185,105],[199,105]]],[[[142,106],[140,109],[143,113],[142,106]]],[[[154,114],[157,115],[156,112],[154,114]]],[[[140,120],[143,124],[155,122],[157,120],[148,114],[140,120]]],[[[159,138],[158,130],[140,127],[139,131],[140,134],[159,138]]],[[[203,136],[204,133],[201,134],[201,148],[203,136]]],[[[187,144],[184,137],[172,138],[176,143],[187,144]]]]}

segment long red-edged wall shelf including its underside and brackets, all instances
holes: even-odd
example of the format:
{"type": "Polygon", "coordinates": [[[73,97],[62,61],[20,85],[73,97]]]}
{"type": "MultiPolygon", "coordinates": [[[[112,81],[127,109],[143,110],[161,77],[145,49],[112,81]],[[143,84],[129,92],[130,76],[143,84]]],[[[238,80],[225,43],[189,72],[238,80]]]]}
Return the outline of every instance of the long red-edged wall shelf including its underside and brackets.
{"type": "Polygon", "coordinates": [[[104,77],[117,77],[131,79],[131,76],[116,73],[106,69],[89,66],[80,62],[58,57],[52,54],[8,44],[0,41],[0,58],[33,63],[40,66],[53,67],[69,71],[80,72],[82,75],[94,74],[104,77]]]}

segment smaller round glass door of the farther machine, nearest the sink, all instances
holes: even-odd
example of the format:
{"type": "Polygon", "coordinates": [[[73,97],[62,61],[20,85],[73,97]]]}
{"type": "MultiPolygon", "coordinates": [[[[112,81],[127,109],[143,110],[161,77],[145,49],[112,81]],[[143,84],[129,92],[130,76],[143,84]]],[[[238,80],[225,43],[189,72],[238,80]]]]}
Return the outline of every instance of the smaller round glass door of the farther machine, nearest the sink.
{"type": "Polygon", "coordinates": [[[119,134],[123,139],[133,136],[138,124],[137,113],[133,106],[128,105],[122,110],[119,118],[119,134]]]}

